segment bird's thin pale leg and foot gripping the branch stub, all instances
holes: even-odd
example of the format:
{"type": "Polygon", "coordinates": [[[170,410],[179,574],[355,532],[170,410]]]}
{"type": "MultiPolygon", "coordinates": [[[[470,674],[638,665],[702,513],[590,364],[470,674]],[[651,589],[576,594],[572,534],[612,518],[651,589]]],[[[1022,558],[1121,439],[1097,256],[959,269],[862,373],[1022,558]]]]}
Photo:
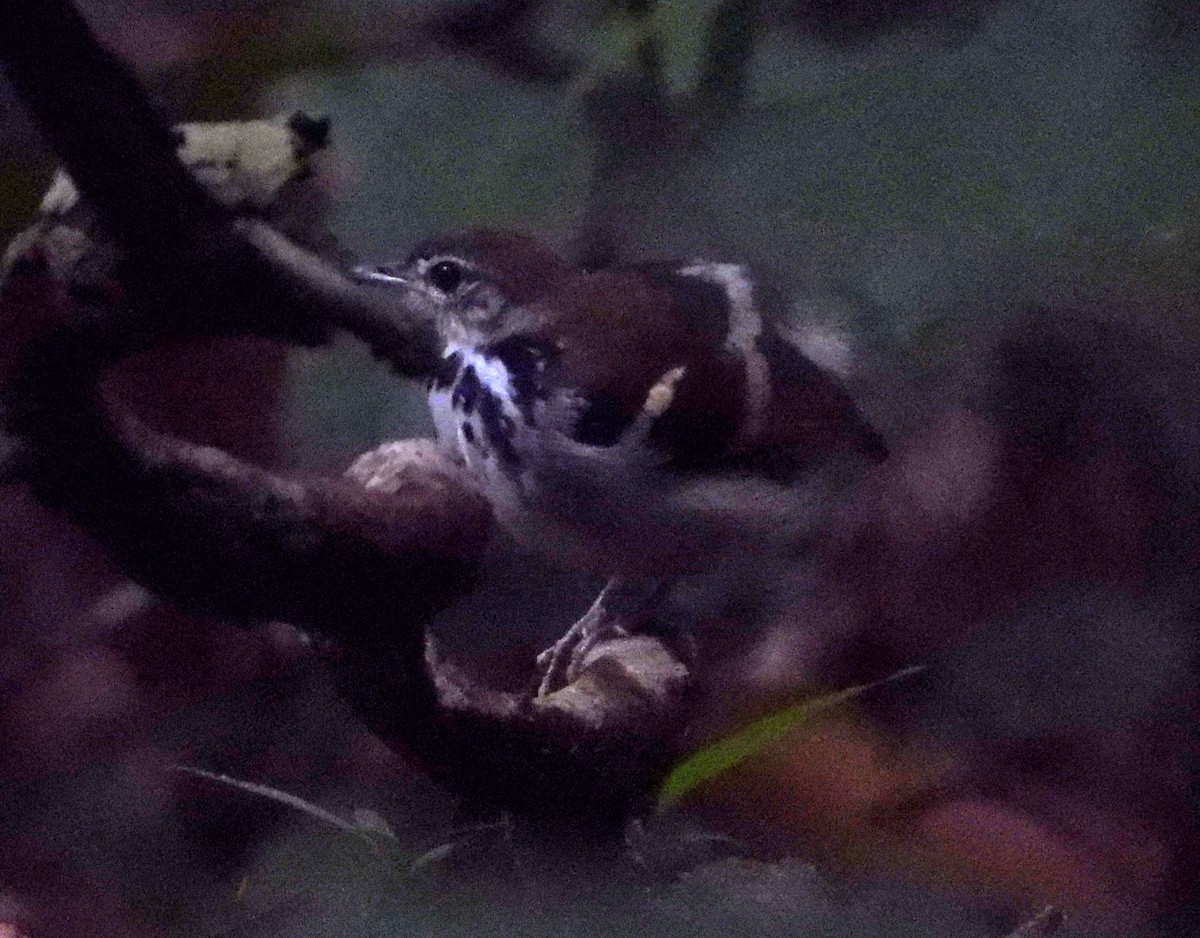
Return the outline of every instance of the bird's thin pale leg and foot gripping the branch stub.
{"type": "Polygon", "coordinates": [[[653,578],[610,579],[566,635],[538,655],[538,696],[545,697],[575,680],[588,654],[601,642],[637,631],[661,588],[662,581],[653,578]]]}

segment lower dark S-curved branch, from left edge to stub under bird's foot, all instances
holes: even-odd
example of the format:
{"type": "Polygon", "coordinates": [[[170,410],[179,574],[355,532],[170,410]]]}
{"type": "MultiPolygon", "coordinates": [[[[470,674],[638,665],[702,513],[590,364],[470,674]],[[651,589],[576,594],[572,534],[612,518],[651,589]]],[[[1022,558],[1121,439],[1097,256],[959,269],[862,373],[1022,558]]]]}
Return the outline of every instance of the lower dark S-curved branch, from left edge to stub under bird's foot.
{"type": "Polygon", "coordinates": [[[146,345],[130,319],[94,312],[22,350],[6,429],[44,504],[167,597],[336,639],[343,695],[368,727],[476,804],[588,830],[648,802],[678,756],[688,684],[660,642],[601,647],[575,684],[536,701],[467,679],[425,635],[487,541],[491,510],[457,464],[409,441],[350,479],[300,483],[157,434],[98,387],[146,345]]]}

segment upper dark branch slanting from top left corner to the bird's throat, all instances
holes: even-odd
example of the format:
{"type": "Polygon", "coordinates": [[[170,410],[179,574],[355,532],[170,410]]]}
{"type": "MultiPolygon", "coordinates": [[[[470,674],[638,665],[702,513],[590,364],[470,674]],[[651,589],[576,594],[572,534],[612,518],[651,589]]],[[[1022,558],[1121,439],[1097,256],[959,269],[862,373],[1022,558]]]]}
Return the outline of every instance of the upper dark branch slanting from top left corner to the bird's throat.
{"type": "Polygon", "coordinates": [[[314,344],[346,327],[398,373],[428,373],[437,351],[414,311],[356,289],[283,239],[236,226],[184,170],[166,122],[68,2],[0,0],[0,12],[5,73],[125,248],[124,285],[151,335],[314,344]]]}

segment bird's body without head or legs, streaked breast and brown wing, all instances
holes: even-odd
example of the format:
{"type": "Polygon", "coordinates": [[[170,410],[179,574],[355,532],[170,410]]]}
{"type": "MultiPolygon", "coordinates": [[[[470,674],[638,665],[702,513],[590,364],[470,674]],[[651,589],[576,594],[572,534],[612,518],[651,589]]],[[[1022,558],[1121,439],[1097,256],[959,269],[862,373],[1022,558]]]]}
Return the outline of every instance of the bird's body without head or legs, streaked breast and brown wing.
{"type": "Polygon", "coordinates": [[[530,308],[532,327],[449,341],[430,404],[542,548],[610,572],[803,548],[841,483],[829,467],[887,452],[740,265],[584,275],[530,308]]]}

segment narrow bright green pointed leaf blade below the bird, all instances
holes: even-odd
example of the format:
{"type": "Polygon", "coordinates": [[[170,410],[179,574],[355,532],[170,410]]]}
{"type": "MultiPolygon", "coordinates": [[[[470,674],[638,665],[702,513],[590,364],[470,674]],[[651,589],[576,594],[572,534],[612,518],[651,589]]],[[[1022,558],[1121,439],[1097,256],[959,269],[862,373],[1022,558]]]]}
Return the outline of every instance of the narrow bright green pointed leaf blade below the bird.
{"type": "Polygon", "coordinates": [[[898,671],[882,680],[859,684],[844,691],[804,701],[774,714],[768,714],[744,729],[697,750],[677,763],[668,772],[662,788],[659,789],[659,811],[674,807],[689,793],[768,750],[792,730],[811,722],[816,715],[852,701],[866,691],[904,680],[922,671],[924,671],[924,666],[917,665],[898,671]]]}

